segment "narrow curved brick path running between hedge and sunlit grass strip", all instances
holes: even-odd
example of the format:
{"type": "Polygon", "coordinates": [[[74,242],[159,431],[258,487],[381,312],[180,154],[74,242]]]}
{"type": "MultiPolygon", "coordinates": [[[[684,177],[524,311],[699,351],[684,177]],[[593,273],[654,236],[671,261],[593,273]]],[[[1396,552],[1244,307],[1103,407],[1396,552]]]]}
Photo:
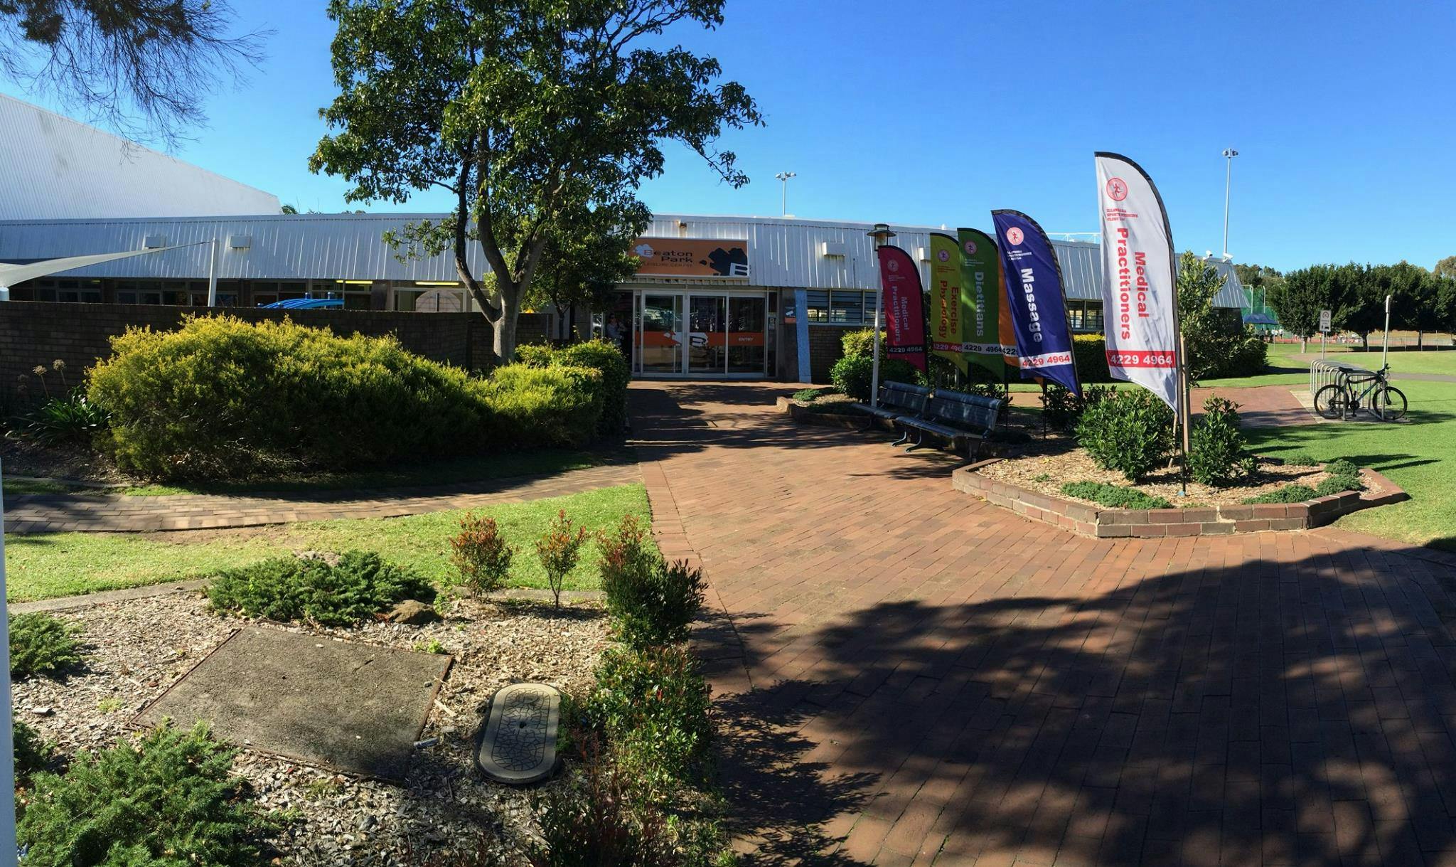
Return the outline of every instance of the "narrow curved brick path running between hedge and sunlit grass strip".
{"type": "Polygon", "coordinates": [[[6,498],[4,532],[198,530],[338,517],[399,517],[540,500],[641,481],[636,465],[609,463],[553,475],[387,491],[314,491],[272,497],[25,494],[6,498]]]}

